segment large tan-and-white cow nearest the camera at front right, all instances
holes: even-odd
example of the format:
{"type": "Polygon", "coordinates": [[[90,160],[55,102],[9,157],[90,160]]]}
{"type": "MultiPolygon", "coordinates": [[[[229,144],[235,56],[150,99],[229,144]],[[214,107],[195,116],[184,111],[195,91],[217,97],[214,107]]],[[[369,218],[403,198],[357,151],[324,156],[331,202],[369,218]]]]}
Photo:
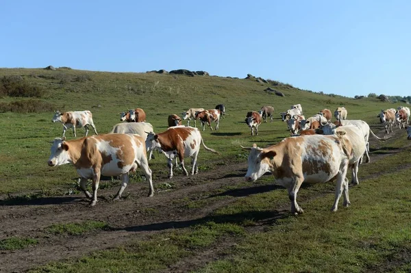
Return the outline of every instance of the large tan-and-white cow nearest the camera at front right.
{"type": "MultiPolygon", "coordinates": [[[[241,146],[242,147],[242,146],[241,146]]],[[[242,147],[250,151],[246,181],[256,181],[266,172],[271,172],[276,183],[286,187],[291,201],[291,212],[303,213],[297,204],[297,192],[303,182],[323,183],[337,179],[332,211],[337,211],[341,192],[344,205],[349,203],[348,179],[346,179],[351,142],[344,133],[337,135],[305,135],[285,138],[267,148],[242,147]]]]}

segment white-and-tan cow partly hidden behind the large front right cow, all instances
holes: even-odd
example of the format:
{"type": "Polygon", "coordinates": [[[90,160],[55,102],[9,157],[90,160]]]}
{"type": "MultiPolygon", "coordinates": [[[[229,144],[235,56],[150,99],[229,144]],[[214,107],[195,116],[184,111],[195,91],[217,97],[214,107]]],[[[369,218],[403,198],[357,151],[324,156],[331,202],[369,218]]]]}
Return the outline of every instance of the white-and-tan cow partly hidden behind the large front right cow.
{"type": "MultiPolygon", "coordinates": [[[[360,164],[360,160],[366,153],[366,142],[364,140],[364,135],[362,135],[362,131],[356,125],[345,125],[336,127],[332,123],[328,123],[327,125],[321,128],[323,130],[324,135],[336,135],[338,131],[344,131],[345,137],[349,139],[351,142],[351,158],[349,159],[349,167],[351,167],[352,176],[351,176],[351,183],[353,185],[358,185],[358,164],[360,164]]],[[[368,155],[368,153],[367,153],[368,155]]]]}

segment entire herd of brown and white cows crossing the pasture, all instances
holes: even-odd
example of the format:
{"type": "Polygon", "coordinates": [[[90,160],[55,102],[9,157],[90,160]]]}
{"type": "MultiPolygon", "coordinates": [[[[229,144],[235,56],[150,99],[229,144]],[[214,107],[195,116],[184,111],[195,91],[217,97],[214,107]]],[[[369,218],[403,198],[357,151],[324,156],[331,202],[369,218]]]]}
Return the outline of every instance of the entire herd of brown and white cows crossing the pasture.
{"type": "MultiPolygon", "coordinates": [[[[259,111],[247,113],[245,122],[251,129],[251,135],[258,135],[258,126],[262,122],[273,121],[274,108],[266,105],[259,111]]],[[[287,123],[290,137],[282,142],[259,148],[256,144],[252,147],[242,147],[250,151],[248,170],[245,175],[247,181],[256,181],[264,173],[271,172],[277,183],[288,190],[291,201],[292,213],[302,213],[303,209],[297,204],[297,192],[303,182],[321,183],[336,179],[336,192],[332,211],[338,209],[338,200],[343,194],[343,205],[348,206],[348,179],[347,171],[351,169],[351,183],[358,184],[358,167],[362,164],[363,157],[369,162],[369,135],[378,140],[369,125],[363,120],[347,120],[347,109],[338,107],[334,111],[336,121],[333,123],[332,112],[321,109],[318,114],[309,118],[303,115],[300,104],[292,105],[286,112],[279,113],[282,120],[287,123]]],[[[129,181],[129,172],[140,167],[149,183],[149,196],[153,196],[153,182],[148,161],[153,151],[159,151],[167,158],[169,178],[173,177],[173,161],[177,158],[185,175],[188,171],[184,166],[184,158],[190,157],[192,161],[191,174],[197,174],[197,156],[201,144],[207,151],[218,153],[208,148],[197,129],[196,121],[200,120],[201,128],[206,125],[219,129],[220,118],[224,118],[224,105],[216,105],[215,109],[190,108],[182,113],[182,118],[176,114],[168,117],[169,129],[162,133],[154,133],[153,127],[146,122],[146,114],[140,108],[129,109],[120,113],[120,120],[127,121],[114,125],[112,131],[105,135],[97,135],[92,114],[82,112],[55,112],[52,121],[62,122],[62,138],[55,138],[51,147],[49,166],[73,164],[81,177],[79,185],[84,194],[91,199],[90,205],[97,203],[97,189],[101,175],[120,176],[121,188],[115,198],[121,198],[123,190],[129,181]],[[187,127],[182,125],[182,120],[187,120],[187,127]],[[195,127],[189,127],[193,120],[195,127]],[[87,137],[88,126],[92,127],[96,135],[87,137]],[[86,137],[79,140],[66,140],[66,129],[84,127],[86,137]],[[149,152],[149,159],[147,159],[149,152]],[[92,180],[92,194],[86,190],[86,181],[92,180]]],[[[399,125],[408,131],[411,139],[411,127],[408,127],[410,109],[386,109],[378,115],[384,125],[386,133],[393,131],[393,125],[399,125]]]]}

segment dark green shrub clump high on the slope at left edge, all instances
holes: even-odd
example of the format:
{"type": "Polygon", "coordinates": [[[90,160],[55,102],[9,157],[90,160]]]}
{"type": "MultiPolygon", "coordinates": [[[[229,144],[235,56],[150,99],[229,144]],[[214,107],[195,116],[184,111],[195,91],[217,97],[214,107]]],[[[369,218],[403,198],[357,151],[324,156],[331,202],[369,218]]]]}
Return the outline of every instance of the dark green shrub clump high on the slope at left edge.
{"type": "Polygon", "coordinates": [[[0,96],[20,96],[38,98],[45,95],[45,90],[34,86],[20,76],[4,76],[0,79],[0,96]]]}

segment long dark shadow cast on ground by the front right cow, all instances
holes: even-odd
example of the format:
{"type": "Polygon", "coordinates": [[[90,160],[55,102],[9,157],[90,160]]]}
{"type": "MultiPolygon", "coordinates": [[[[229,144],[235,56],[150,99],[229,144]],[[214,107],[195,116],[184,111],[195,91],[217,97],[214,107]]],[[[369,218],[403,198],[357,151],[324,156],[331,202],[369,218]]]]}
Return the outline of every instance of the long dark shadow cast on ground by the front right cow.
{"type": "Polygon", "coordinates": [[[288,211],[244,211],[241,213],[232,213],[217,216],[206,216],[192,220],[169,221],[154,224],[145,224],[141,226],[127,226],[126,228],[114,229],[129,232],[140,231],[164,231],[167,229],[184,229],[190,226],[214,222],[216,224],[243,224],[247,220],[252,221],[257,226],[272,225],[279,219],[287,218],[291,214],[288,211]]]}

